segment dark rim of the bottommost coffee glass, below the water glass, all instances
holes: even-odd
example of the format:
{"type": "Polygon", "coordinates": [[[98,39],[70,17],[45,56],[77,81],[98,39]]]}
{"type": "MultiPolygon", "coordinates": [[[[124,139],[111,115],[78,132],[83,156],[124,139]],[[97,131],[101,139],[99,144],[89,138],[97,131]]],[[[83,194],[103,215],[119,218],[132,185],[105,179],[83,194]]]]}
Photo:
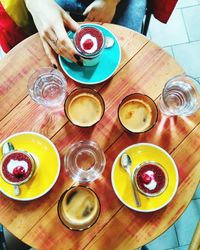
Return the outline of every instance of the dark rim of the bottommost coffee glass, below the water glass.
{"type": "Polygon", "coordinates": [[[97,222],[97,220],[98,220],[98,218],[99,218],[99,216],[100,216],[100,213],[101,213],[101,203],[100,203],[99,196],[97,195],[97,193],[96,193],[93,189],[91,189],[91,188],[88,187],[88,186],[83,186],[83,185],[71,186],[70,188],[68,188],[67,190],[65,190],[65,191],[61,194],[61,196],[60,196],[60,198],[59,198],[59,200],[58,200],[58,204],[57,204],[57,214],[58,214],[58,217],[59,217],[60,221],[62,222],[62,224],[63,224],[65,227],[67,227],[68,229],[72,230],[72,231],[78,231],[78,232],[80,232],[80,231],[85,231],[85,230],[89,229],[90,227],[92,227],[92,226],[97,222]],[[97,203],[98,203],[98,213],[97,213],[97,215],[96,215],[96,218],[94,219],[94,221],[92,221],[92,223],[91,223],[89,226],[87,226],[87,227],[85,227],[85,228],[81,228],[81,229],[75,229],[75,228],[72,228],[72,227],[66,225],[65,222],[64,222],[63,219],[62,219],[62,216],[60,215],[60,206],[61,206],[61,204],[62,204],[62,201],[63,201],[63,198],[64,198],[65,194],[68,193],[70,190],[76,189],[76,188],[88,189],[91,193],[94,194],[94,196],[95,196],[96,199],[97,199],[97,203]]]}

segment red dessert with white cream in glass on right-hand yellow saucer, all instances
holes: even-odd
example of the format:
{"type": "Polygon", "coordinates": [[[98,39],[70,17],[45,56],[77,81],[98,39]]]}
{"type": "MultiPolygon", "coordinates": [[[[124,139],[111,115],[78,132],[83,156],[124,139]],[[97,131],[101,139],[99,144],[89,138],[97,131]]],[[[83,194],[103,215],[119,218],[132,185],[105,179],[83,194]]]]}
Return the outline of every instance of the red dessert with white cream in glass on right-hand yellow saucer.
{"type": "Polygon", "coordinates": [[[134,176],[138,190],[147,196],[159,195],[167,187],[166,171],[156,162],[141,164],[134,176]]]}

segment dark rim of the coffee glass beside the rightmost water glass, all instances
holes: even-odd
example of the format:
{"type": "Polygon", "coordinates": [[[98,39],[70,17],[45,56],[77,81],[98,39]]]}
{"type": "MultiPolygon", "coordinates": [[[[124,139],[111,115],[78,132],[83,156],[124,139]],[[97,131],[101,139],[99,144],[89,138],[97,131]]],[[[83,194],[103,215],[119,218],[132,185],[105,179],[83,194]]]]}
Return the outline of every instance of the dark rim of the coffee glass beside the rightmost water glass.
{"type": "Polygon", "coordinates": [[[151,130],[151,129],[156,125],[156,123],[157,123],[157,121],[158,121],[158,107],[157,107],[155,101],[154,101],[150,96],[148,96],[148,95],[146,95],[146,94],[142,94],[142,93],[136,92],[136,93],[132,93],[132,94],[129,94],[129,95],[125,96],[125,97],[121,100],[120,104],[118,105],[117,115],[118,115],[118,120],[119,120],[121,126],[123,127],[123,129],[124,129],[125,131],[127,131],[127,132],[129,132],[129,133],[131,133],[131,134],[146,133],[146,132],[148,132],[149,130],[151,130]],[[155,121],[154,121],[149,127],[147,127],[147,129],[144,130],[144,131],[139,131],[139,132],[136,131],[136,132],[134,132],[134,131],[129,130],[128,128],[126,128],[126,127],[123,125],[123,123],[122,123],[122,121],[121,121],[121,119],[120,119],[120,116],[119,116],[119,110],[120,110],[121,106],[124,104],[124,101],[125,101],[126,99],[128,99],[129,97],[134,96],[134,95],[140,95],[140,96],[145,96],[145,97],[147,97],[147,98],[153,103],[153,105],[154,105],[154,107],[155,107],[155,110],[156,110],[156,118],[155,118],[155,121]]]}

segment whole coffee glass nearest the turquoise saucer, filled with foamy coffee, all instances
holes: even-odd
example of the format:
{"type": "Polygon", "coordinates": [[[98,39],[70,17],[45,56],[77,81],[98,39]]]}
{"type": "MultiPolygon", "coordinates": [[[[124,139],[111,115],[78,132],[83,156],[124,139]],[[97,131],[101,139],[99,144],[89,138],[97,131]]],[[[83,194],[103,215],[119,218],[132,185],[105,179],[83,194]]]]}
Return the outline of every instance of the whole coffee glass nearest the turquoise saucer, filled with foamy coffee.
{"type": "Polygon", "coordinates": [[[103,117],[105,103],[97,91],[90,88],[79,88],[67,96],[64,110],[67,118],[74,125],[91,127],[103,117]]]}

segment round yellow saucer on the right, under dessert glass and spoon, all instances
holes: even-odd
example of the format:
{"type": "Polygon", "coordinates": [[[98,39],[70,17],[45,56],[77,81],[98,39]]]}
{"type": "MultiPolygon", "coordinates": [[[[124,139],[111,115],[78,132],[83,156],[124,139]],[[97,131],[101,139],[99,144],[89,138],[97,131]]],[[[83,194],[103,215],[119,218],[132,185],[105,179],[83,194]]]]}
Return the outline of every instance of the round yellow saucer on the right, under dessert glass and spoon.
{"type": "Polygon", "coordinates": [[[152,212],[166,206],[174,197],[178,187],[178,171],[174,160],[164,149],[149,143],[138,143],[125,148],[113,163],[111,178],[112,186],[120,201],[127,207],[140,212],[152,212]],[[166,190],[156,197],[146,197],[138,192],[141,206],[136,207],[130,177],[120,164],[123,153],[127,153],[131,157],[132,172],[138,164],[144,161],[160,163],[168,173],[169,180],[166,190]]]}

